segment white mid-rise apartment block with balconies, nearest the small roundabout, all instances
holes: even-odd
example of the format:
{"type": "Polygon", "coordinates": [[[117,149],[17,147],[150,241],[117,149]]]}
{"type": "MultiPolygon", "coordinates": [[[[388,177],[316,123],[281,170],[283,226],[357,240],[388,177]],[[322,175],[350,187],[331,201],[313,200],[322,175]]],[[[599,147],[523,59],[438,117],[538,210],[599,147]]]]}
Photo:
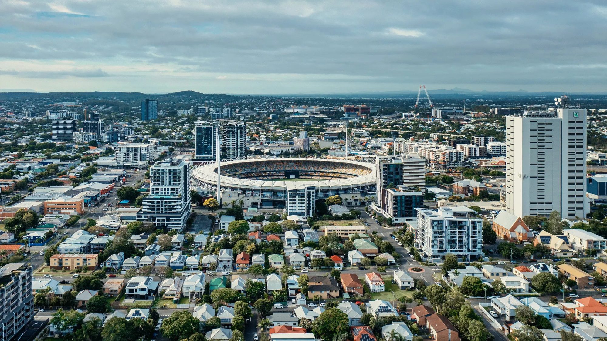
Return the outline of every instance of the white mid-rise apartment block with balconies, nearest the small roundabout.
{"type": "Polygon", "coordinates": [[[483,220],[472,209],[416,208],[415,243],[427,262],[441,263],[446,254],[463,260],[483,257],[483,220]]]}

